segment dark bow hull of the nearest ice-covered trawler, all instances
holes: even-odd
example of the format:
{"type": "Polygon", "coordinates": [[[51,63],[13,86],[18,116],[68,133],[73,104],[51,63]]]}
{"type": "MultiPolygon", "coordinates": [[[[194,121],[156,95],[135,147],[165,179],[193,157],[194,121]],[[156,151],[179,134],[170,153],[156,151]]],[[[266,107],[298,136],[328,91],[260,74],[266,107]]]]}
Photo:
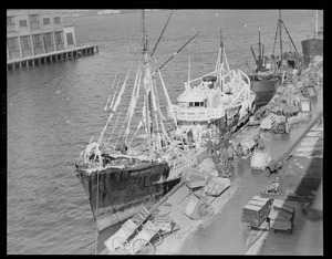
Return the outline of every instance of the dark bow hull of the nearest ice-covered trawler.
{"type": "Polygon", "coordinates": [[[76,175],[89,197],[98,230],[133,216],[143,204],[149,208],[178,183],[178,179],[157,183],[168,177],[167,163],[105,168],[91,174],[85,168],[77,168],[76,175]]]}

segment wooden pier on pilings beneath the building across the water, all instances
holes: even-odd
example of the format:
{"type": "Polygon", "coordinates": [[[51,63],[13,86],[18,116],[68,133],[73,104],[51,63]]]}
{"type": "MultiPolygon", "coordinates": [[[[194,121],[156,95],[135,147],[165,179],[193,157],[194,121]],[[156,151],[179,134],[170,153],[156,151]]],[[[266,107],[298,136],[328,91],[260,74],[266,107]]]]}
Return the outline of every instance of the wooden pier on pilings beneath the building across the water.
{"type": "Polygon", "coordinates": [[[64,60],[76,59],[84,55],[91,55],[98,52],[97,45],[76,45],[66,50],[54,51],[44,54],[30,55],[7,61],[7,71],[25,69],[40,64],[59,62],[64,60]]]}

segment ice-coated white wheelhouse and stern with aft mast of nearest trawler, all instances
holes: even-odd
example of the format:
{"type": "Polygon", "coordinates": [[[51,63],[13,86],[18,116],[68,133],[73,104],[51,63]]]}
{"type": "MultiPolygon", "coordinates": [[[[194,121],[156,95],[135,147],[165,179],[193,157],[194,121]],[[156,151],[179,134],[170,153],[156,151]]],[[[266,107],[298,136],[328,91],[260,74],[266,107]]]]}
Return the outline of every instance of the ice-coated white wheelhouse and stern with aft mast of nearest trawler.
{"type": "MultiPolygon", "coordinates": [[[[248,122],[256,104],[250,79],[241,70],[230,70],[220,31],[220,48],[215,71],[185,82],[185,91],[174,104],[178,134],[201,132],[235,132],[248,122]],[[216,131],[209,131],[212,128],[216,131]]],[[[210,136],[214,137],[214,136],[210,136]]]]}

